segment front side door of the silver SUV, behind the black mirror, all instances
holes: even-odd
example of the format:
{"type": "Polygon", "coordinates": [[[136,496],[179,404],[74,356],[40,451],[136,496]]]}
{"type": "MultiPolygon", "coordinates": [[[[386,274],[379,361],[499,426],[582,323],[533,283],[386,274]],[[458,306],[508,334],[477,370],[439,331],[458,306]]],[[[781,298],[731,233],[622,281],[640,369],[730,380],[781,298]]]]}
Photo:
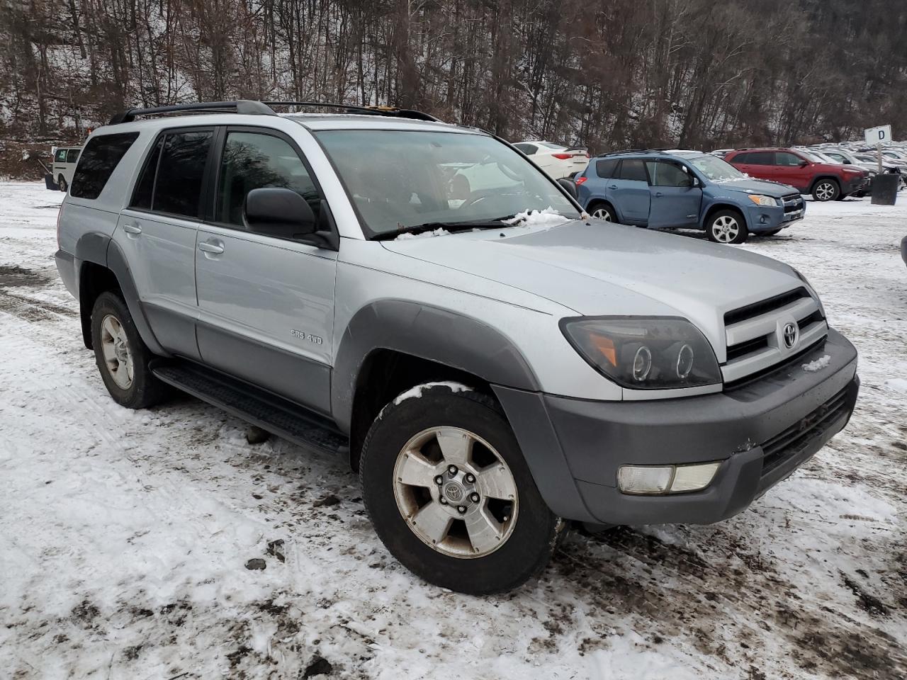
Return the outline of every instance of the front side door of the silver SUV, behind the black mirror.
{"type": "Polygon", "coordinates": [[[282,132],[230,127],[218,148],[210,221],[195,248],[201,358],[329,413],[337,253],[252,233],[243,219],[246,196],[262,187],[296,190],[316,219],[327,219],[327,204],[282,132]]]}

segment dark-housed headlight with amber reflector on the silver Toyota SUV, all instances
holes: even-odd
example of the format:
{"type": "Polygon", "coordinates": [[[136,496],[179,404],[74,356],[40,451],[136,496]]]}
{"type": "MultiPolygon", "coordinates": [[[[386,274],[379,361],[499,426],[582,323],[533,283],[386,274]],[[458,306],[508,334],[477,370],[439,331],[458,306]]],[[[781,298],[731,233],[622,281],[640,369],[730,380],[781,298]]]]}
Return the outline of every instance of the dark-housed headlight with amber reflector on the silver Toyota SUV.
{"type": "Polygon", "coordinates": [[[580,316],[561,319],[561,332],[595,370],[632,390],[721,382],[711,345],[686,319],[580,316]]]}

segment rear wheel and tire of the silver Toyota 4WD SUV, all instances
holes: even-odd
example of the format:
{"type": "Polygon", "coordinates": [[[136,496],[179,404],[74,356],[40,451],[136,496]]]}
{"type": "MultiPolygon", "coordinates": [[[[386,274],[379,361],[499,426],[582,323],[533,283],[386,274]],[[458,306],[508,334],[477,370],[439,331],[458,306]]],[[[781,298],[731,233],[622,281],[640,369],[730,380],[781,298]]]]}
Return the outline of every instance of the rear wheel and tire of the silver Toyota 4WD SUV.
{"type": "Polygon", "coordinates": [[[154,355],[141,341],[129,307],[116,293],[102,293],[94,301],[92,345],[101,379],[114,402],[130,409],[161,402],[167,387],[148,367],[154,355]]]}

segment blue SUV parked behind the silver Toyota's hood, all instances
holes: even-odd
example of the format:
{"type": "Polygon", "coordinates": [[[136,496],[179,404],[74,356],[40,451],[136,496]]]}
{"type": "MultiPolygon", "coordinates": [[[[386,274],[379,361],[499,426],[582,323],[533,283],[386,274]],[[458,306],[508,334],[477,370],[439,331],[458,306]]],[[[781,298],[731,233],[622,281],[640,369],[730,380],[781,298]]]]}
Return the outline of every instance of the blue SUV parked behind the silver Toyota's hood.
{"type": "Polygon", "coordinates": [[[773,236],[802,219],[806,204],[785,184],[754,180],[700,151],[619,151],[593,158],[576,177],[594,218],[648,228],[705,229],[713,241],[773,236]]]}

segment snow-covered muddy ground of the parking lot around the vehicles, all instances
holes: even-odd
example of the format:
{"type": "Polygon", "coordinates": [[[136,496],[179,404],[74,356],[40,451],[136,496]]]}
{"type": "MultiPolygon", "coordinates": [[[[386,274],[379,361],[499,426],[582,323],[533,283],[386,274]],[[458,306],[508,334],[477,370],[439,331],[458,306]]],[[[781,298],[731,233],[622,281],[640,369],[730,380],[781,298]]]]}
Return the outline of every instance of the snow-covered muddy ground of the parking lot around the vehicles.
{"type": "Polygon", "coordinates": [[[112,403],[54,268],[61,195],[0,184],[0,677],[903,678],[900,199],[810,202],[745,246],[857,345],[844,433],[732,520],[574,536],[475,598],[395,563],[345,461],[250,445],[188,397],[112,403]]]}

